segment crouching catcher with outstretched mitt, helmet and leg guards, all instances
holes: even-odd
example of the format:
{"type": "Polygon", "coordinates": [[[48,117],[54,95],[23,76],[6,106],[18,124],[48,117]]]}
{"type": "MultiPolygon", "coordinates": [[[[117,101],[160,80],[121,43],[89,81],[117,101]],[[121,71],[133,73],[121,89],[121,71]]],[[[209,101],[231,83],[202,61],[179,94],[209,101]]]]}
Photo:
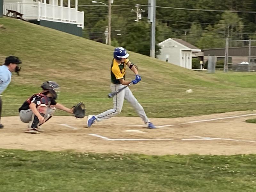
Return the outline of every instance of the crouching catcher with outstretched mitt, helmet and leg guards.
{"type": "Polygon", "coordinates": [[[20,120],[23,123],[28,123],[29,129],[26,133],[39,133],[39,126],[53,116],[56,108],[71,113],[78,118],[85,116],[83,102],[70,109],[55,101],[57,99],[56,91],[60,88],[56,82],[46,81],[41,85],[41,88],[43,89],[42,92],[32,95],[19,108],[20,120]]]}

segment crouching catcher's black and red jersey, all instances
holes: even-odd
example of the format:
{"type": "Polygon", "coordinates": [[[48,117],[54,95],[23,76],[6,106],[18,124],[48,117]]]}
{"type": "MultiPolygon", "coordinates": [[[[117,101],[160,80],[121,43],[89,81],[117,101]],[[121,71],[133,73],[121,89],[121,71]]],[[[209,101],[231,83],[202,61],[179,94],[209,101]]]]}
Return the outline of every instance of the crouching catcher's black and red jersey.
{"type": "Polygon", "coordinates": [[[30,103],[35,103],[36,107],[39,106],[40,104],[45,104],[47,106],[50,105],[56,105],[57,102],[52,98],[52,97],[47,97],[46,94],[48,92],[41,92],[41,93],[36,93],[32,95],[29,99],[27,99],[22,106],[19,108],[19,112],[21,110],[27,110],[29,109],[30,103]]]}

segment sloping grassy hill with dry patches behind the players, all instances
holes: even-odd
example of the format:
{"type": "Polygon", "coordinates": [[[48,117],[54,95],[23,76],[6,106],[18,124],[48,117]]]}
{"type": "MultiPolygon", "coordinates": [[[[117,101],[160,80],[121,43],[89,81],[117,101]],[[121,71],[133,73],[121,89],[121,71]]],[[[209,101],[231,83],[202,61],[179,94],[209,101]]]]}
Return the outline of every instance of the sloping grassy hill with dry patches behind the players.
{"type": "MultiPolygon", "coordinates": [[[[0,62],[9,55],[22,61],[20,76],[13,75],[4,92],[3,115],[17,109],[47,80],[61,85],[58,101],[71,107],[84,101],[87,114],[112,107],[107,98],[114,47],[11,18],[0,18],[0,62]]],[[[255,109],[254,73],[206,74],[190,71],[137,53],[142,81],[131,86],[149,117],[177,117],[255,109]],[[192,94],[186,94],[193,89],[192,94]]],[[[134,78],[128,72],[127,79],[134,78]]],[[[64,115],[64,112],[58,112],[64,115]]],[[[137,116],[125,103],[122,116],[137,116]]]]}

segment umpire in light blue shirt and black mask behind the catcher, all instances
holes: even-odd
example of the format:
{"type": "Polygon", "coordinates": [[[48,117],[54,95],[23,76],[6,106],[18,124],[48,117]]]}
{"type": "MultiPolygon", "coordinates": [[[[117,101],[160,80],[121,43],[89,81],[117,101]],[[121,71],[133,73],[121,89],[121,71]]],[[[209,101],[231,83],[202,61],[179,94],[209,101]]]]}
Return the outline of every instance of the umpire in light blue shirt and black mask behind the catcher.
{"type": "MultiPolygon", "coordinates": [[[[11,83],[12,72],[15,71],[18,75],[21,67],[21,60],[15,56],[9,56],[5,58],[4,65],[0,66],[0,94],[4,92],[4,90],[11,83]]],[[[2,98],[0,97],[0,121],[2,114],[2,98]]],[[[0,123],[0,129],[4,128],[4,125],[0,123]]]]}

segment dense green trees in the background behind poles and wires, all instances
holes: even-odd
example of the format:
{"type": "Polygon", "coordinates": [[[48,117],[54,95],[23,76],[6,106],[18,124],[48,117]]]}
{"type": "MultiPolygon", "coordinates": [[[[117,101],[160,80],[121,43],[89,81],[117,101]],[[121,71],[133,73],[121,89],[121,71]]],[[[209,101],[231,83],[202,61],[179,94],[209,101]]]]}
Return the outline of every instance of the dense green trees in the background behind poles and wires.
{"type": "MultiPolygon", "coordinates": [[[[72,1],[74,2],[74,0],[72,1]]],[[[90,2],[87,0],[79,0],[79,11],[85,12],[84,36],[105,43],[105,29],[101,27],[108,25],[108,9],[106,6],[82,6],[91,4],[90,2]]],[[[108,0],[102,0],[101,2],[107,4],[108,0]]],[[[134,12],[131,12],[131,9],[135,8],[135,4],[147,5],[148,0],[114,1],[113,5],[115,6],[111,8],[111,38],[115,39],[114,44],[118,44],[119,46],[124,44],[128,46],[129,41],[131,41],[129,45],[131,50],[140,53],[144,52],[142,54],[149,55],[150,25],[147,23],[146,19],[148,14],[147,7],[140,7],[146,11],[142,13],[142,20],[135,23],[134,20],[136,16],[134,12]],[[145,28],[140,28],[141,25],[145,28]],[[115,30],[121,31],[115,32],[115,30]],[[141,32],[135,30],[141,30],[141,32]],[[117,36],[118,33],[122,35],[117,36]],[[132,39],[131,36],[136,37],[136,40],[132,39]],[[142,45],[144,47],[142,47],[142,45]]],[[[161,0],[157,1],[157,6],[213,10],[256,10],[256,1],[161,0]]],[[[234,39],[248,39],[256,30],[254,13],[222,13],[157,7],[156,19],[156,44],[169,37],[174,37],[182,38],[201,49],[225,47],[225,39],[227,36],[234,39]],[[209,27],[207,23],[212,23],[211,27],[209,27]],[[186,36],[184,36],[185,32],[186,36]]],[[[243,45],[241,43],[242,42],[230,42],[230,46],[243,45]]],[[[156,48],[156,51],[157,50],[159,49],[156,48]]]]}

